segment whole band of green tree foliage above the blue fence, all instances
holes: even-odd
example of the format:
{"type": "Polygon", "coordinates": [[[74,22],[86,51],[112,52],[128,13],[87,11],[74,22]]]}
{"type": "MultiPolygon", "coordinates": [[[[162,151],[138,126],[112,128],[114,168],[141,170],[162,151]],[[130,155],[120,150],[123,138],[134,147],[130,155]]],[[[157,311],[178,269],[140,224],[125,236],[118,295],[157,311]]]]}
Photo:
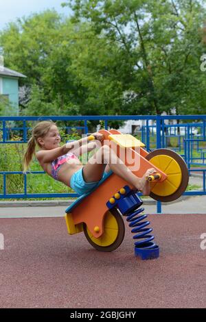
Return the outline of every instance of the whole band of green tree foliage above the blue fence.
{"type": "Polygon", "coordinates": [[[201,0],[67,0],[10,23],[5,65],[27,75],[22,114],[204,114],[201,0]],[[27,94],[28,95],[28,94],[27,94]]]}

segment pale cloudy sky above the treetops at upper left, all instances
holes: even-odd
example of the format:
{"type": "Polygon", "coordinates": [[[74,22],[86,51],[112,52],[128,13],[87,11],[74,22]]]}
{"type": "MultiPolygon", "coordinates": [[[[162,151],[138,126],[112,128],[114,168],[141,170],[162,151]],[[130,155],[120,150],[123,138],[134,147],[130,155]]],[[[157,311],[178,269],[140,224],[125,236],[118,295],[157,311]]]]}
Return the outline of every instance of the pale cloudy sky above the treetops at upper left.
{"type": "Polygon", "coordinates": [[[62,8],[61,3],[65,0],[0,0],[0,30],[7,23],[15,21],[16,18],[30,16],[32,12],[41,12],[54,8],[57,12],[69,14],[69,7],[62,8]]]}

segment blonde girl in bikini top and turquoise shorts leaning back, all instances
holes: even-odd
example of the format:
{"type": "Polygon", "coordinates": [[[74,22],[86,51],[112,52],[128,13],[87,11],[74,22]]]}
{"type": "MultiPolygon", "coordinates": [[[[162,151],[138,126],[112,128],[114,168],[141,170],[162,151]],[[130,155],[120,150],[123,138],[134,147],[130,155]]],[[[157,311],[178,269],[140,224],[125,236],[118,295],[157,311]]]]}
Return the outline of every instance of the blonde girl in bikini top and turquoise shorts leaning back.
{"type": "MultiPolygon", "coordinates": [[[[102,142],[102,134],[96,132],[93,136],[102,142]]],[[[100,147],[83,166],[78,156],[93,150],[96,147],[94,142],[89,143],[89,139],[86,137],[60,147],[60,140],[58,127],[53,121],[37,123],[23,158],[24,171],[27,171],[37,144],[40,149],[35,155],[43,170],[54,179],[70,186],[79,195],[89,193],[97,186],[106,174],[104,173],[105,169],[106,172],[111,169],[119,177],[140,190],[143,195],[150,194],[147,177],[154,173],[155,169],[148,169],[143,177],[137,177],[128,170],[122,160],[117,158],[116,153],[108,145],[100,147]]]]}

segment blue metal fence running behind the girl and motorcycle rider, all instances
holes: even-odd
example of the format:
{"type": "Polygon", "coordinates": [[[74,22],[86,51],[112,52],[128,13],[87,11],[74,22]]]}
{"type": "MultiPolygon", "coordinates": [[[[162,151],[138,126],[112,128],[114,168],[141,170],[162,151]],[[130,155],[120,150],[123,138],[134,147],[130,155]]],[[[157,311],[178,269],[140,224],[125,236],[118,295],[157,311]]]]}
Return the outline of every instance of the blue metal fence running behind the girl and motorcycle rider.
{"type": "MultiPolygon", "coordinates": [[[[181,155],[187,162],[187,167],[190,173],[202,172],[203,173],[203,190],[202,191],[187,191],[185,195],[206,195],[205,191],[205,171],[206,169],[191,169],[192,165],[205,165],[206,147],[201,147],[200,143],[205,142],[205,124],[206,115],[185,115],[185,116],[0,116],[0,145],[7,144],[22,144],[27,143],[28,136],[31,130],[31,122],[44,121],[64,121],[66,122],[80,122],[80,125],[66,126],[68,131],[71,128],[81,129],[82,134],[89,133],[89,122],[91,121],[104,121],[105,129],[108,129],[110,121],[127,121],[127,120],[146,120],[146,126],[141,128],[141,140],[146,144],[146,149],[159,149],[161,147],[168,147],[168,138],[175,137],[178,141],[178,147],[174,148],[177,151],[182,151],[181,155]],[[168,124],[173,120],[179,120],[179,124],[168,124]],[[198,122],[196,122],[198,120],[198,122]],[[152,121],[153,125],[149,125],[152,121]],[[21,123],[18,126],[18,123],[21,123]],[[28,125],[29,123],[29,125],[28,125]],[[82,125],[82,123],[84,125],[82,125]],[[198,134],[194,134],[194,128],[198,129],[198,134]],[[183,129],[183,134],[179,134],[180,129],[183,129]],[[12,140],[11,134],[17,133],[21,138],[20,140],[12,140]],[[151,139],[153,143],[151,143],[151,139]],[[154,147],[155,144],[155,147],[154,147]],[[199,153],[199,156],[194,156],[194,151],[199,153]]],[[[171,148],[171,147],[170,147],[171,148]]],[[[44,171],[30,171],[32,174],[44,174],[44,171]]],[[[2,193],[0,192],[0,199],[9,198],[45,198],[45,197],[77,197],[74,193],[27,193],[27,173],[22,171],[1,171],[0,175],[3,176],[2,193]],[[23,193],[9,194],[7,193],[6,177],[7,175],[23,175],[23,193]]],[[[161,203],[157,203],[157,211],[161,212],[161,203]]]]}

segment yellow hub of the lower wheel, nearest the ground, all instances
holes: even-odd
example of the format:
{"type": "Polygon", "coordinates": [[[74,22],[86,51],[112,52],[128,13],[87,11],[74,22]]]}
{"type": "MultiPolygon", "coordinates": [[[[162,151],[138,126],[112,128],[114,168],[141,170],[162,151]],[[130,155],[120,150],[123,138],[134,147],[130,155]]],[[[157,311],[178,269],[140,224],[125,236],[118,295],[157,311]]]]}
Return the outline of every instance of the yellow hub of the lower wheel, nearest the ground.
{"type": "Polygon", "coordinates": [[[113,244],[117,239],[118,232],[118,223],[111,212],[106,212],[106,215],[104,217],[104,233],[102,234],[102,236],[100,236],[100,238],[95,238],[87,228],[89,238],[91,238],[93,243],[102,247],[113,244]]]}

